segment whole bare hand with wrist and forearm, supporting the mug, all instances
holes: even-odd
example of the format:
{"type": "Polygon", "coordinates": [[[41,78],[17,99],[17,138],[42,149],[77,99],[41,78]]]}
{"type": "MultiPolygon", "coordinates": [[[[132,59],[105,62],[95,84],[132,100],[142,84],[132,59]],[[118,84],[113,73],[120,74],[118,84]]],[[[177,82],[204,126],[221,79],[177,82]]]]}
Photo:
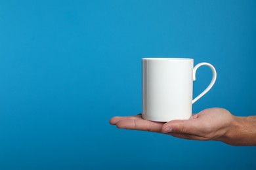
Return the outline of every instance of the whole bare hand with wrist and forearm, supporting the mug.
{"type": "Polygon", "coordinates": [[[256,116],[239,117],[221,108],[205,109],[189,120],[152,122],[136,116],[115,116],[110,124],[121,129],[150,131],[198,141],[221,141],[233,146],[256,146],[256,116]]]}

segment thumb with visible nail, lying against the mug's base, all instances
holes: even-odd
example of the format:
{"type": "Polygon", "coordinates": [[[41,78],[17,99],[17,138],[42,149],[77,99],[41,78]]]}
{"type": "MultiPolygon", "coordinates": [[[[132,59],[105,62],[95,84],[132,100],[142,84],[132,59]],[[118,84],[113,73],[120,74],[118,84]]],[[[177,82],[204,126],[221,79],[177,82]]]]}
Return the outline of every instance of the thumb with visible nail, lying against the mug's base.
{"type": "Polygon", "coordinates": [[[161,129],[162,133],[188,133],[188,134],[196,134],[198,132],[198,124],[194,119],[190,120],[172,120],[163,124],[161,129]]]}

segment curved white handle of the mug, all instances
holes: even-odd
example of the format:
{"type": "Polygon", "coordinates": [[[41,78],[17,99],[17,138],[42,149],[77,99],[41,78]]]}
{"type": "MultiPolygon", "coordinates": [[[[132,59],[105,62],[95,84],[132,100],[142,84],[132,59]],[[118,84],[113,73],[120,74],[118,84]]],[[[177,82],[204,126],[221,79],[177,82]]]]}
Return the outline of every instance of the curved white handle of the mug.
{"type": "Polygon", "coordinates": [[[217,78],[217,73],[216,73],[216,70],[215,68],[213,67],[213,65],[211,65],[210,63],[198,63],[194,69],[193,69],[193,81],[196,80],[196,70],[201,67],[202,65],[207,65],[208,67],[210,67],[211,71],[213,72],[213,78],[211,79],[211,82],[210,84],[207,86],[207,88],[205,88],[205,90],[203,90],[202,93],[200,93],[200,95],[198,95],[198,97],[194,98],[192,100],[192,104],[194,104],[196,101],[198,101],[198,99],[200,99],[203,95],[205,95],[205,93],[207,93],[212,87],[213,87],[213,84],[215,83],[216,81],[216,78],[217,78]]]}

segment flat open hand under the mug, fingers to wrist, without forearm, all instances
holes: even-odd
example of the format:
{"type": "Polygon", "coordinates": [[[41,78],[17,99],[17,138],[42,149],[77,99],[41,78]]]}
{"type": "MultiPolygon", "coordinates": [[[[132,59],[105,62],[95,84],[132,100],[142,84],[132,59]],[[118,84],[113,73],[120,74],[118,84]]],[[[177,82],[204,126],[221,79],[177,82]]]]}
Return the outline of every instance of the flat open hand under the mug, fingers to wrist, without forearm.
{"type": "Polygon", "coordinates": [[[137,116],[115,116],[110,119],[110,124],[123,129],[165,133],[182,139],[224,141],[224,134],[229,132],[233,121],[234,116],[228,110],[213,108],[193,114],[189,120],[152,122],[144,120],[141,114],[138,114],[137,116]]]}

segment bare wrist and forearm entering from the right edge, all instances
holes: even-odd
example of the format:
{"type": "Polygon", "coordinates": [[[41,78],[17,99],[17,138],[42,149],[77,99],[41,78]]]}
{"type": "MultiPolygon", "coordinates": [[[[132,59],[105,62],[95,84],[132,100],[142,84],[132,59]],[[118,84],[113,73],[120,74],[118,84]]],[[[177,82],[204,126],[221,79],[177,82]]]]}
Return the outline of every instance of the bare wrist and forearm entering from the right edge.
{"type": "Polygon", "coordinates": [[[234,146],[256,146],[256,116],[234,116],[220,141],[234,146]]]}

